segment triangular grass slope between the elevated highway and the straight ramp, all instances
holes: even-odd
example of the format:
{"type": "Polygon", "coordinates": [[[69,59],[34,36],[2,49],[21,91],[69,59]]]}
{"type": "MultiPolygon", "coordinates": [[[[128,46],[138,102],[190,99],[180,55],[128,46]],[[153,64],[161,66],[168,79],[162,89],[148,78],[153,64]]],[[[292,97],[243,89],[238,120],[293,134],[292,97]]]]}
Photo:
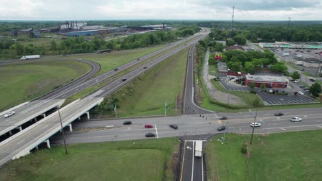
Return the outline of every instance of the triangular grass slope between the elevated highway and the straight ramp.
{"type": "MultiPolygon", "coordinates": [[[[114,94],[120,99],[118,116],[164,115],[166,100],[167,115],[178,114],[175,101],[182,93],[188,51],[186,48],[167,58],[118,90],[114,94]]],[[[105,116],[109,114],[114,115],[114,112],[105,112],[105,116]]]]}

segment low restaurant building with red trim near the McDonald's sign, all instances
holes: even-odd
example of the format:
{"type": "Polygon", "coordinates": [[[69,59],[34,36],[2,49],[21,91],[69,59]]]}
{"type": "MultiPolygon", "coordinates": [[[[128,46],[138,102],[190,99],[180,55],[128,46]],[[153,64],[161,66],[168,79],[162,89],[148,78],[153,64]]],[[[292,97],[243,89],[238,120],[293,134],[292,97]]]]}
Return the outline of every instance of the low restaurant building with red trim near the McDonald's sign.
{"type": "Polygon", "coordinates": [[[254,82],[255,86],[260,87],[265,84],[266,87],[272,88],[286,88],[288,80],[283,76],[270,76],[270,75],[245,75],[245,83],[249,85],[254,82]]]}

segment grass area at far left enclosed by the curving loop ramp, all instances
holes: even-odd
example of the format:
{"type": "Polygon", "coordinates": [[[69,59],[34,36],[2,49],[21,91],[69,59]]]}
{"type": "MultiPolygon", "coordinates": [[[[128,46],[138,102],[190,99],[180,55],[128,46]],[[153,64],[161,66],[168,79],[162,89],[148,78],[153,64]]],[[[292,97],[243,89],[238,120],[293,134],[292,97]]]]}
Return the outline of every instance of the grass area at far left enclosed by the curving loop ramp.
{"type": "Polygon", "coordinates": [[[89,65],[74,61],[37,62],[0,67],[0,110],[76,80],[89,69],[89,65]]]}

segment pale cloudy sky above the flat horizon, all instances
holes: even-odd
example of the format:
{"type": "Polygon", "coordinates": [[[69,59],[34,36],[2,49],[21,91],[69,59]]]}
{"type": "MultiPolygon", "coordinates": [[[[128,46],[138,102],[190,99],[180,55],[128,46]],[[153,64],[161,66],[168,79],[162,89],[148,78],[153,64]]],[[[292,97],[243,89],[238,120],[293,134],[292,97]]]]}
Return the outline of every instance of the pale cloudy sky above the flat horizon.
{"type": "Polygon", "coordinates": [[[0,20],[321,20],[322,0],[0,0],[0,20]]]}

